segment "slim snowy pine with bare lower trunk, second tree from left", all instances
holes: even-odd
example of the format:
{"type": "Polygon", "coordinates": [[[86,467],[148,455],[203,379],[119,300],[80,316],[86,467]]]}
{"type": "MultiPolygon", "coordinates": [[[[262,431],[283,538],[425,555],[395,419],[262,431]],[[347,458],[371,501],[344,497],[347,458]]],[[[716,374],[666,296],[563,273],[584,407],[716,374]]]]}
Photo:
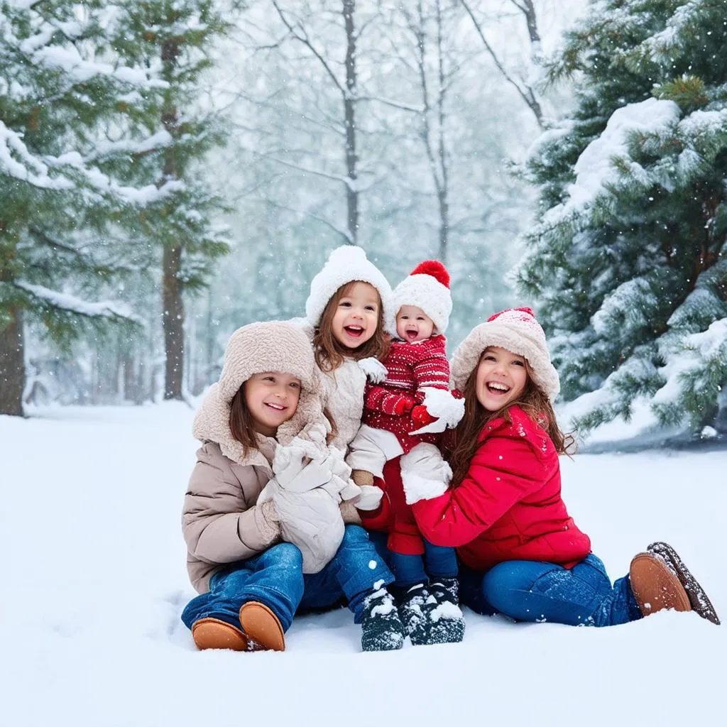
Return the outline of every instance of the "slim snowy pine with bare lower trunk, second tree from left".
{"type": "MultiPolygon", "coordinates": [[[[162,324],[166,354],[164,398],[182,398],[185,362],[183,294],[201,289],[212,262],[227,254],[220,225],[220,196],[204,177],[206,153],[222,145],[217,119],[204,108],[201,79],[209,51],[228,25],[212,0],[124,0],[113,47],[127,63],[145,65],[164,87],[145,94],[132,110],[135,135],[153,134],[163,148],[140,150],[116,174],[135,185],[173,185],[173,192],[145,207],[137,240],[161,258],[162,324]]],[[[234,5],[234,3],[233,3],[234,5]]],[[[132,131],[132,135],[134,132],[132,131]]]]}

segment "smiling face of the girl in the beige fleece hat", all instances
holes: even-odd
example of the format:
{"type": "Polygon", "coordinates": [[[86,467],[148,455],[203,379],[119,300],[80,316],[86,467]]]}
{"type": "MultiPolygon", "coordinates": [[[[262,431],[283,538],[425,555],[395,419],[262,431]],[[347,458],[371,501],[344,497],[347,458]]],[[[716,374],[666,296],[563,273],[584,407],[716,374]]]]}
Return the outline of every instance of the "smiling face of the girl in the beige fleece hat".
{"type": "Polygon", "coordinates": [[[244,387],[254,430],[274,437],[278,427],[295,414],[300,398],[300,379],[280,371],[266,371],[252,374],[244,387]]]}

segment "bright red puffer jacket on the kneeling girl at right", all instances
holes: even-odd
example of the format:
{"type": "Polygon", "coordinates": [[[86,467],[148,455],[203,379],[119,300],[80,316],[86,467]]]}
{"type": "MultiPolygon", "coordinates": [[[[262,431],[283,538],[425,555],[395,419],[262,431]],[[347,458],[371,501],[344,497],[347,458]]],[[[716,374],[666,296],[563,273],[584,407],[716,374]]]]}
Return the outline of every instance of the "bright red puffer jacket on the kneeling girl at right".
{"type": "Polygon", "coordinates": [[[590,553],[590,539],[561,499],[558,453],[522,409],[513,406],[510,417],[483,427],[458,487],[413,505],[419,530],[435,545],[456,546],[476,571],[502,561],[570,568],[590,553]]]}

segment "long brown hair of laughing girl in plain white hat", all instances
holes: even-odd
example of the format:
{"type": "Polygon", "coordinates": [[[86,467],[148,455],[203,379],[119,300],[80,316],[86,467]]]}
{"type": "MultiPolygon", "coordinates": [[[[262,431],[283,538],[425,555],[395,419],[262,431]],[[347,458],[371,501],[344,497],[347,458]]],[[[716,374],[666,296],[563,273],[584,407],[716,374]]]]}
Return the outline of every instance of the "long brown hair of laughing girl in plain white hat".
{"type": "MultiPolygon", "coordinates": [[[[342,298],[346,297],[356,283],[366,281],[352,280],[342,285],[326,303],[321,314],[321,321],[318,323],[316,332],[313,334],[313,349],[315,350],[316,364],[321,371],[334,371],[344,361],[347,356],[355,361],[361,361],[361,358],[369,358],[373,356],[381,361],[389,353],[391,339],[386,332],[384,325],[384,307],[381,304],[381,296],[376,291],[376,297],[379,306],[379,321],[377,322],[374,335],[369,338],[366,343],[358,348],[346,348],[342,346],[333,334],[333,317],[336,315],[338,304],[342,298]]],[[[373,286],[371,286],[373,287],[373,286]]],[[[374,290],[376,290],[374,288],[374,290]]]]}

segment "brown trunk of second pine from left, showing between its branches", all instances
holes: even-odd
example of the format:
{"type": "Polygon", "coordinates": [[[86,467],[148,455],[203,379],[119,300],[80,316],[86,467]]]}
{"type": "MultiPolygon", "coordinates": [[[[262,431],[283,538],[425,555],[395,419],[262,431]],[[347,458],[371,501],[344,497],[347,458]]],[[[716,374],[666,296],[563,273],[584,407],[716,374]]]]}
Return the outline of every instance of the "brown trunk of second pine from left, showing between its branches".
{"type": "MultiPolygon", "coordinates": [[[[164,42],[161,47],[161,61],[165,66],[174,67],[180,49],[176,39],[164,42]]],[[[179,110],[170,97],[167,97],[161,112],[161,123],[172,135],[179,136],[179,110]]],[[[174,144],[166,149],[164,156],[164,180],[178,179],[177,158],[174,144]]],[[[181,399],[184,377],[184,302],[182,301],[182,245],[165,244],[162,260],[162,325],[164,326],[164,398],[181,399]]]]}

